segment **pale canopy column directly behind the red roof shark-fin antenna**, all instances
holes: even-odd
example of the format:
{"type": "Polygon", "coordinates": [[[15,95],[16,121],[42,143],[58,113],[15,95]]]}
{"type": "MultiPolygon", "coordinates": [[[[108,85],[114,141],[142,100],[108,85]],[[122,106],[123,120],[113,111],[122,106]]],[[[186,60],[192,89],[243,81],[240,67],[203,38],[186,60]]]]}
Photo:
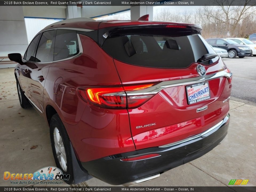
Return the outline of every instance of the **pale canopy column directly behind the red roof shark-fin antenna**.
{"type": "Polygon", "coordinates": [[[149,21],[153,21],[153,6],[131,6],[131,20],[137,20],[149,14],[149,21]]]}

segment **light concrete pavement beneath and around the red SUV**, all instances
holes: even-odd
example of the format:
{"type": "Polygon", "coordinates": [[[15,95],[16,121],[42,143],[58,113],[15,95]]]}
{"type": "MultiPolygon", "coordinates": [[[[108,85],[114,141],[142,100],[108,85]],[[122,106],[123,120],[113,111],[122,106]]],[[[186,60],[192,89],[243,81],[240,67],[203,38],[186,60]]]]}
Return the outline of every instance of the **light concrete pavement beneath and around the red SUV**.
{"type": "MultiPolygon", "coordinates": [[[[13,68],[0,69],[0,114],[0,186],[12,186],[2,179],[4,171],[33,173],[55,166],[49,127],[33,108],[21,108],[13,68]]],[[[247,186],[256,186],[256,107],[230,101],[230,115],[229,132],[221,145],[137,186],[227,186],[230,179],[249,179],[247,186]]],[[[79,185],[110,186],[96,178],[79,185]]]]}

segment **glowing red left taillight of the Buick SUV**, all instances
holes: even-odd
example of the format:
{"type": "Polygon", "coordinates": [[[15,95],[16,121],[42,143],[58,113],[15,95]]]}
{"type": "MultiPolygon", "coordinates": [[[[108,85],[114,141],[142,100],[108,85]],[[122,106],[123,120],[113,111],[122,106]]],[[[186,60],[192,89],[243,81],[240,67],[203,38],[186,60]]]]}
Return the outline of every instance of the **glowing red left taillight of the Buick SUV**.
{"type": "Polygon", "coordinates": [[[125,91],[146,89],[155,84],[125,85],[115,87],[78,87],[80,97],[95,106],[112,109],[136,108],[149,100],[153,94],[127,95],[125,91]]]}

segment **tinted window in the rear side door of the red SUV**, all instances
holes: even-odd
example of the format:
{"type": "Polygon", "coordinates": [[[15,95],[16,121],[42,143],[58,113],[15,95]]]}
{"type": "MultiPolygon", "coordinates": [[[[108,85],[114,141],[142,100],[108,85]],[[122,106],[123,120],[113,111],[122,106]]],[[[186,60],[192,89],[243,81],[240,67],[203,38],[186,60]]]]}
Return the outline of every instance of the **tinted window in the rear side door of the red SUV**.
{"type": "Polygon", "coordinates": [[[36,62],[53,61],[53,36],[54,30],[45,31],[38,43],[36,62]]]}

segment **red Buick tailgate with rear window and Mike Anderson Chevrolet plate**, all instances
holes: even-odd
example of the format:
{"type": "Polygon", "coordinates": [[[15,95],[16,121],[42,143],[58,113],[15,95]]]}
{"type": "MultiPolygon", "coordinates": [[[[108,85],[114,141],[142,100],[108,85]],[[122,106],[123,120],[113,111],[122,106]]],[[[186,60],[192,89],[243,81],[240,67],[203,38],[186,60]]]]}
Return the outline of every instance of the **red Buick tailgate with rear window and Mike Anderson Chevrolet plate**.
{"type": "Polygon", "coordinates": [[[215,52],[197,32],[178,27],[120,30],[110,34],[102,48],[114,57],[122,84],[129,87],[127,103],[145,99],[127,109],[136,149],[202,133],[227,115],[229,105],[223,101],[231,86],[223,77],[225,65],[218,56],[199,61],[215,52]],[[144,88],[132,89],[133,85],[144,88]]]}

